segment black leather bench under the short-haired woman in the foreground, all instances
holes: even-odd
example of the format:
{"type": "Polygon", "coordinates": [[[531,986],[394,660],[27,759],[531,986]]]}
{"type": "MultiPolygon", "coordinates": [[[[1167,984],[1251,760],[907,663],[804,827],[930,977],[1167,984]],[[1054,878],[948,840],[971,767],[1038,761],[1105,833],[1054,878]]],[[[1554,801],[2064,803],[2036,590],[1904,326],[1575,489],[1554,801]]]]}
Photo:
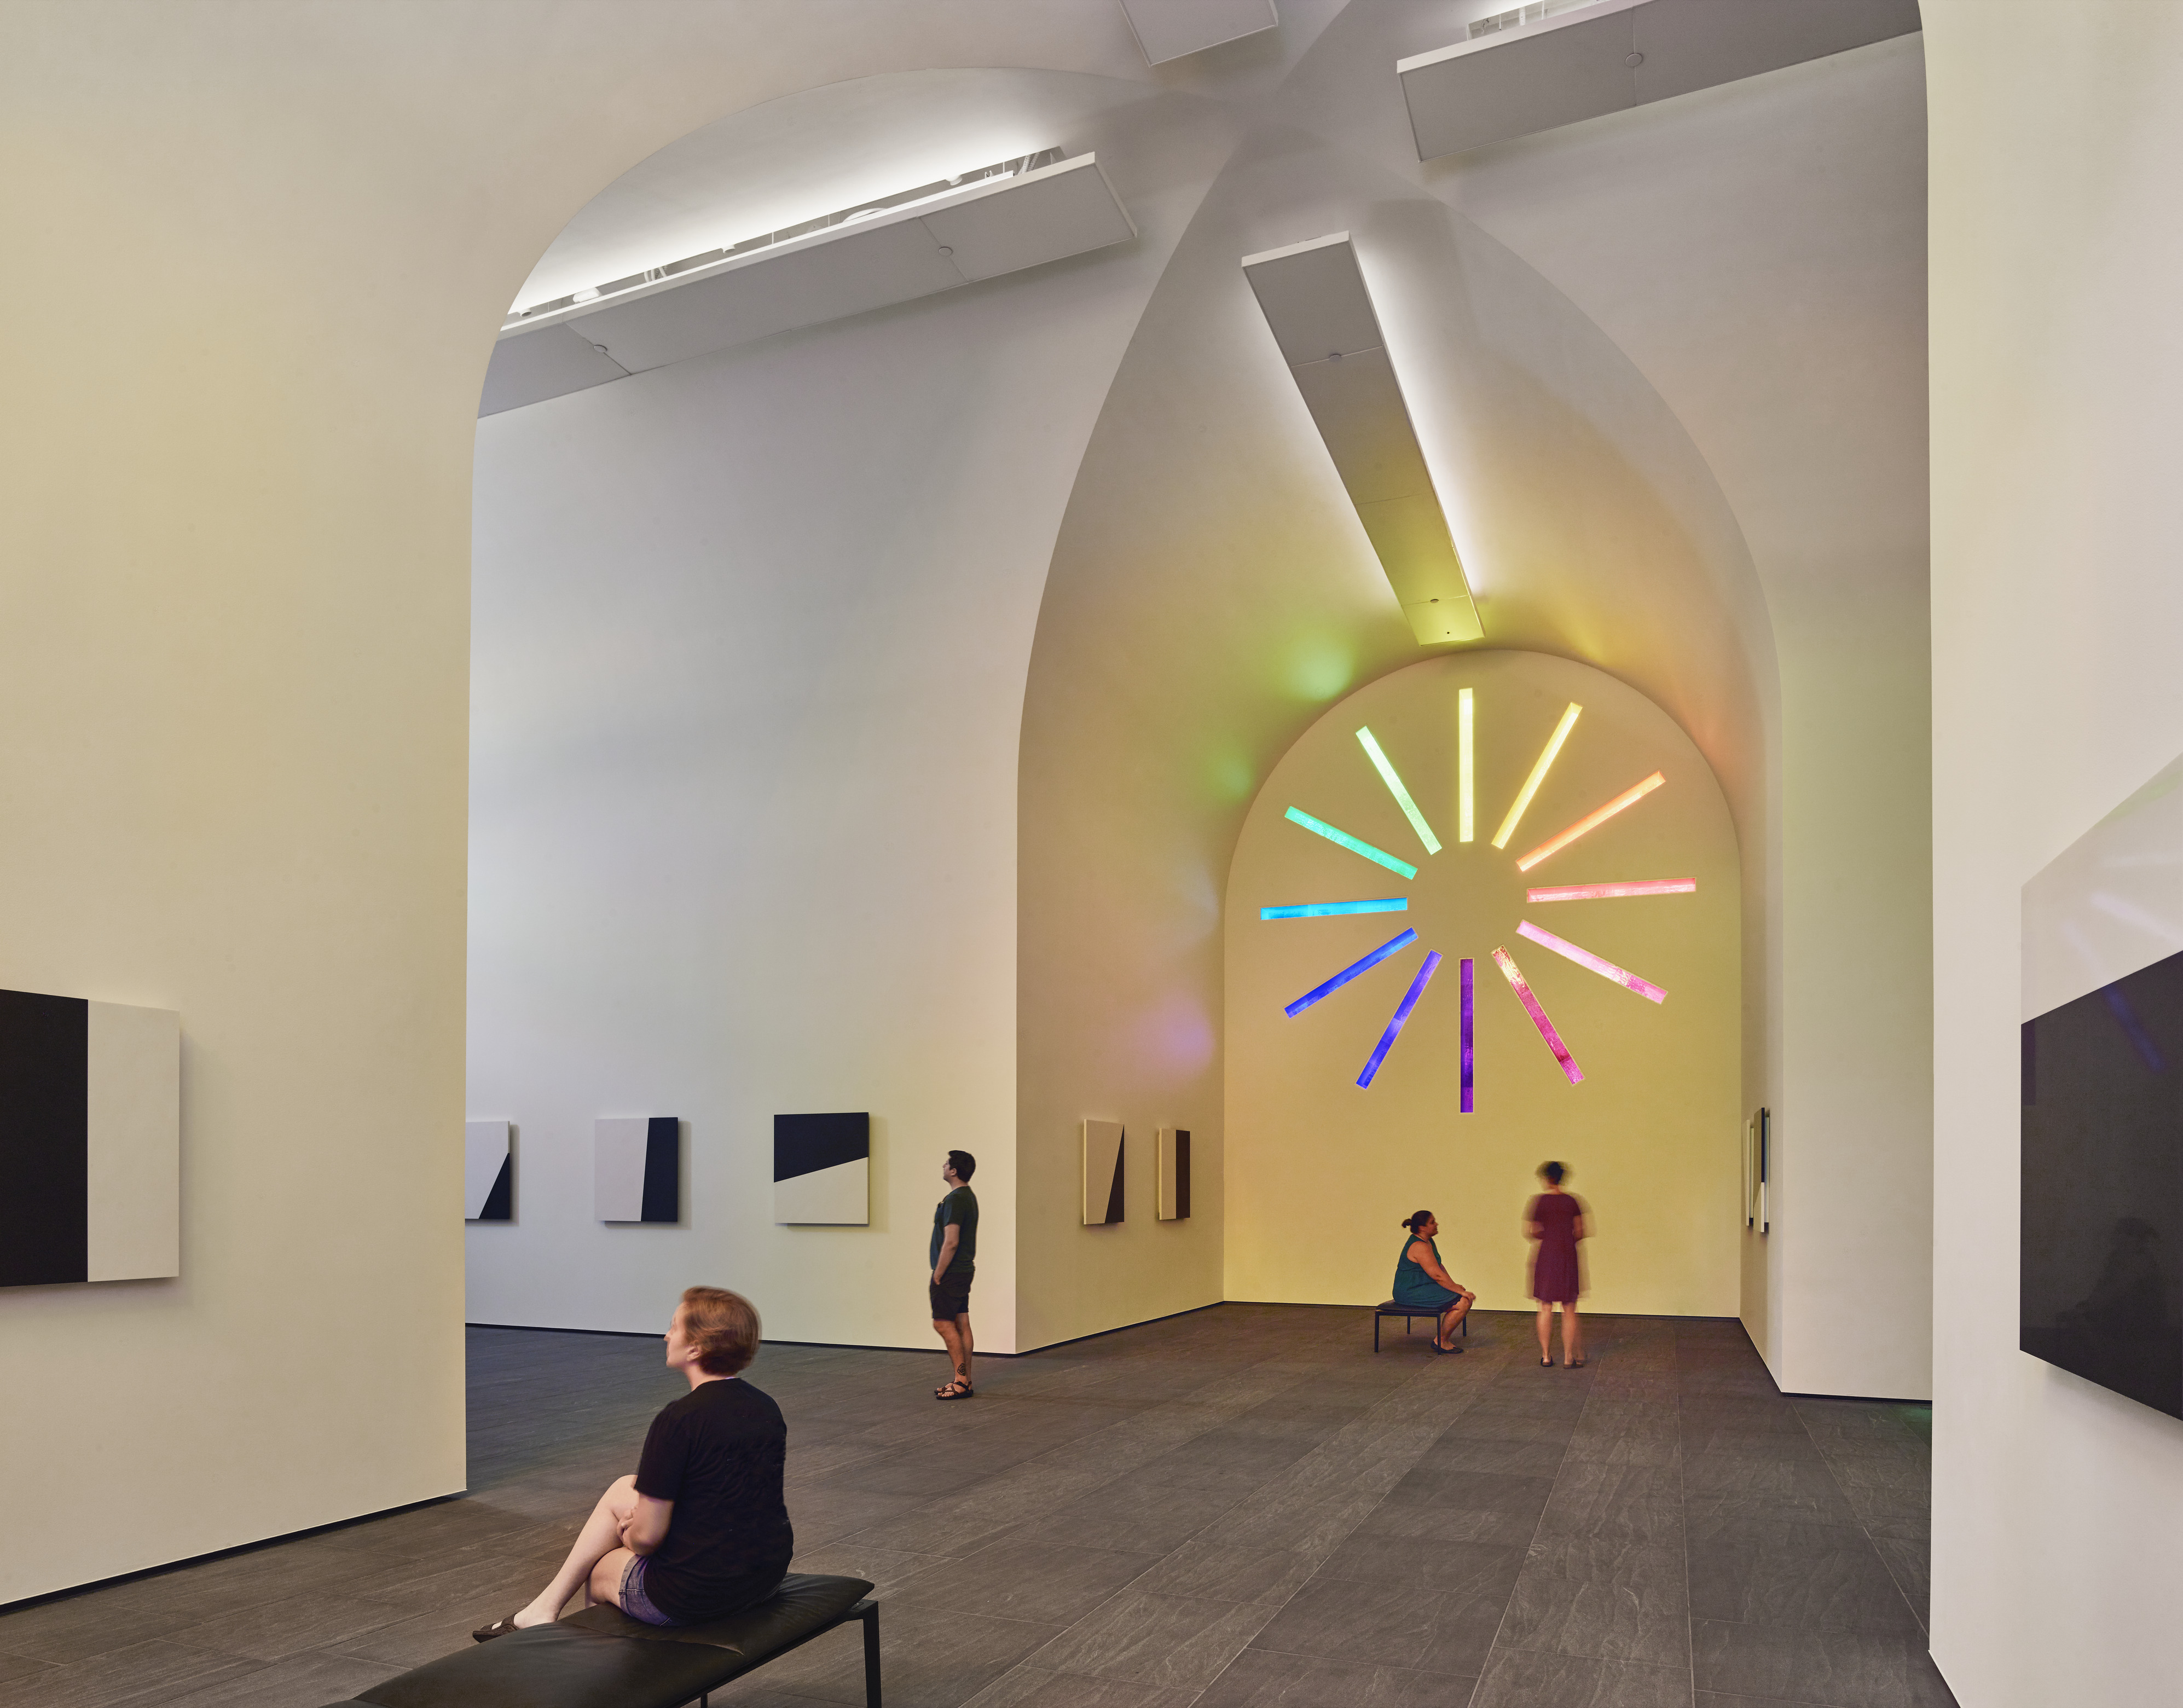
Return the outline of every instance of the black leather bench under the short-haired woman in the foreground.
{"type": "Polygon", "coordinates": [[[585,1608],[496,1636],[327,1708],[683,1708],[836,1625],[864,1625],[864,1704],[880,1708],[880,1603],[860,1577],[788,1573],[718,1625],[644,1625],[585,1608]]]}

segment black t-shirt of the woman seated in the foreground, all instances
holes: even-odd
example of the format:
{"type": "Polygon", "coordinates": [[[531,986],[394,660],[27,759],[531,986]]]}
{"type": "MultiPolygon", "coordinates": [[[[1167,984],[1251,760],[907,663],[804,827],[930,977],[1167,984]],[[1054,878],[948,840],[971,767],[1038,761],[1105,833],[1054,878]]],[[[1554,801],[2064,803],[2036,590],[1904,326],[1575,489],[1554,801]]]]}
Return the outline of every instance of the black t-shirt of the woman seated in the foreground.
{"type": "Polygon", "coordinates": [[[749,1605],[753,1579],[779,1581],[795,1553],[786,1463],[782,1409],[740,1376],[699,1383],[653,1418],[637,1494],[675,1503],[668,1535],[644,1566],[644,1592],[659,1612],[699,1625],[749,1605]]]}

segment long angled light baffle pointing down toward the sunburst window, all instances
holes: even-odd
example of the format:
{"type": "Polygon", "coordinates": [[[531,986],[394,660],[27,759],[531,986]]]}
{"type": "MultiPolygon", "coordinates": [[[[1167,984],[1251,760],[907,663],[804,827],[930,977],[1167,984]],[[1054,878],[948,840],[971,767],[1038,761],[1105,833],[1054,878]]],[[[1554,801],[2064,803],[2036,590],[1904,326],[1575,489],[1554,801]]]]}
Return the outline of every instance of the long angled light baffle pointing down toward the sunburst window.
{"type": "Polygon", "coordinates": [[[1244,256],[1242,271],[1410,633],[1421,647],[1482,640],[1349,234],[1244,256]]]}

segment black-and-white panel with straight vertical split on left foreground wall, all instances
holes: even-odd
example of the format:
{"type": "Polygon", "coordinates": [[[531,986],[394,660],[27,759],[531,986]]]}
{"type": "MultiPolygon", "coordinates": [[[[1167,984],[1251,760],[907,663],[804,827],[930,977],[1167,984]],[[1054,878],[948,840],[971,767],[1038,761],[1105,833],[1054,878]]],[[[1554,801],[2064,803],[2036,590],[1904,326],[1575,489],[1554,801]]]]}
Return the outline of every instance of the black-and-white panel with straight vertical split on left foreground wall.
{"type": "Polygon", "coordinates": [[[0,1286],[181,1273],[181,1016],[0,992],[0,1286]]]}

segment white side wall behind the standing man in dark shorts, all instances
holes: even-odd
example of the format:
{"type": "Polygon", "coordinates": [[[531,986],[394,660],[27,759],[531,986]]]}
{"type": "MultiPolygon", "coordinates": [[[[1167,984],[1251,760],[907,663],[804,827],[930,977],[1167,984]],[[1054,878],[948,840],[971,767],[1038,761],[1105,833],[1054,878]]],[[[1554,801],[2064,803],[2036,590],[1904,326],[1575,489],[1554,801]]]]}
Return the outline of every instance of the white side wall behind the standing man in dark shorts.
{"type": "MultiPolygon", "coordinates": [[[[830,92],[799,100],[823,133],[830,92]]],[[[1022,1339],[1024,671],[1083,443],[1227,138],[1083,76],[899,100],[1096,151],[1140,238],[478,424],[469,1101],[520,1123],[520,1164],[515,1219],[469,1230],[472,1321],[653,1330],[712,1280],[782,1339],[937,1348],[961,1147],[978,1335],[1022,1339]],[[873,1116],[871,1227],[773,1223],[773,1114],[821,1110],[873,1116]],[[644,1112],[688,1123],[683,1221],[609,1227],[592,1123],[644,1112]]],[[[1218,1243],[1218,1197],[1188,1238],[1218,1243]]]]}

